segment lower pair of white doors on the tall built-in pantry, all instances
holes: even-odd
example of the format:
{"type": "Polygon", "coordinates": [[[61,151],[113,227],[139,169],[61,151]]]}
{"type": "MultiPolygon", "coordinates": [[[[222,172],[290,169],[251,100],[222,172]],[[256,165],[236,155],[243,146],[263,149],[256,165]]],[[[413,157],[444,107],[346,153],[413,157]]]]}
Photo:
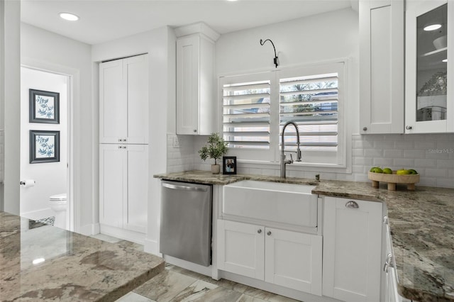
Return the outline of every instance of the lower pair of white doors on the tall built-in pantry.
{"type": "Polygon", "coordinates": [[[99,223],[145,233],[148,145],[99,145],[99,223]]]}

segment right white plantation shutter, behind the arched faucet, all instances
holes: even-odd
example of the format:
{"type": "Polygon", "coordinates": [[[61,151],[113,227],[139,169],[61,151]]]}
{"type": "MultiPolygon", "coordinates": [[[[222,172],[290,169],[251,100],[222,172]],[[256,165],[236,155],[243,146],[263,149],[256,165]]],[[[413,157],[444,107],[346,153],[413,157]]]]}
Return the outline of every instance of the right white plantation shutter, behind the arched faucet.
{"type": "MultiPolygon", "coordinates": [[[[301,150],[338,149],[337,72],[279,79],[279,96],[279,142],[284,124],[294,121],[299,128],[301,150]]],[[[286,128],[284,141],[286,150],[296,148],[293,127],[286,128]]]]}

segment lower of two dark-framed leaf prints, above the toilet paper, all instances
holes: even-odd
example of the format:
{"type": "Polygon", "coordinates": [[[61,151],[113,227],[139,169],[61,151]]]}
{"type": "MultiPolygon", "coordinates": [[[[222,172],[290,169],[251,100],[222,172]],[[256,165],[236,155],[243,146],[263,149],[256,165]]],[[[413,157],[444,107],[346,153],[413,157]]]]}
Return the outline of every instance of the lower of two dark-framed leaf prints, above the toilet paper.
{"type": "Polygon", "coordinates": [[[30,163],[60,162],[60,131],[30,130],[30,163]]]}

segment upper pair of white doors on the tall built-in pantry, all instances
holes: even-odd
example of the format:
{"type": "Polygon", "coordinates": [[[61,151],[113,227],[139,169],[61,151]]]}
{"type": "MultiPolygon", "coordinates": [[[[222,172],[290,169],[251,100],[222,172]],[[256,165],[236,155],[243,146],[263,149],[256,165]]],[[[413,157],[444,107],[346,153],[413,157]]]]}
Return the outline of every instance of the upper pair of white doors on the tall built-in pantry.
{"type": "Polygon", "coordinates": [[[148,55],[99,65],[99,142],[148,143],[148,55]]]}

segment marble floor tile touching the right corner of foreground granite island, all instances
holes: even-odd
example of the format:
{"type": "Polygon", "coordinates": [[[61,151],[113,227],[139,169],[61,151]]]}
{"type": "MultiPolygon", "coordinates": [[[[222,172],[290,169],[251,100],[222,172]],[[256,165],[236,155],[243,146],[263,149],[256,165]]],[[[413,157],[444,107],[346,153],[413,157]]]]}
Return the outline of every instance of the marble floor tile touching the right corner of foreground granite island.
{"type": "Polygon", "coordinates": [[[175,296],[195,281],[196,278],[165,269],[133,292],[157,302],[175,301],[175,296]]]}

